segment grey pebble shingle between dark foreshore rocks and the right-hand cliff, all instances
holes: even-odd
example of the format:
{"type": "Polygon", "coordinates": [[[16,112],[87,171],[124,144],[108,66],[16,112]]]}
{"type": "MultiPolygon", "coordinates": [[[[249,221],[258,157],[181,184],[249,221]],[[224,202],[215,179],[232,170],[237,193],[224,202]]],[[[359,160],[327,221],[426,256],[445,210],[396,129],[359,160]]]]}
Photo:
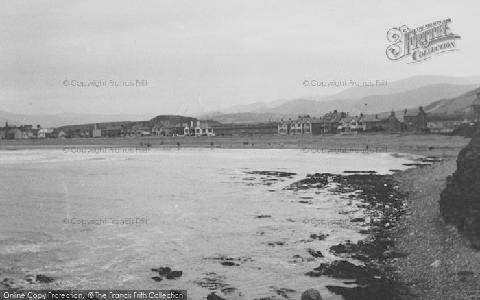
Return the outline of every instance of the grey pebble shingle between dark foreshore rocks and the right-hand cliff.
{"type": "Polygon", "coordinates": [[[449,159],[394,175],[409,197],[392,232],[396,248],[407,255],[391,265],[418,299],[480,297],[480,251],[440,214],[440,192],[456,168],[449,159]]]}

